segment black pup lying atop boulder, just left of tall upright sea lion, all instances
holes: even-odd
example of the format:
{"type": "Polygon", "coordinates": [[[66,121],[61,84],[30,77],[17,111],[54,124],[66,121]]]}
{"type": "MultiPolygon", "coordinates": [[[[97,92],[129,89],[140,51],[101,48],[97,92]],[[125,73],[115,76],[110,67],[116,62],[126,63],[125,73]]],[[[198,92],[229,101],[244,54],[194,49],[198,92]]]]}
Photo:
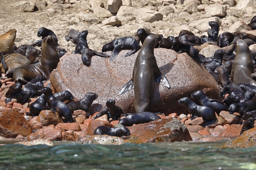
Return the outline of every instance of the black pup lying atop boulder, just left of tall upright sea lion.
{"type": "Polygon", "coordinates": [[[102,47],[102,52],[112,51],[110,56],[110,61],[113,61],[117,57],[120,50],[132,49],[132,51],[126,53],[124,56],[128,57],[136,53],[141,47],[135,38],[132,37],[122,37],[113,40],[112,42],[105,44],[102,47]]]}

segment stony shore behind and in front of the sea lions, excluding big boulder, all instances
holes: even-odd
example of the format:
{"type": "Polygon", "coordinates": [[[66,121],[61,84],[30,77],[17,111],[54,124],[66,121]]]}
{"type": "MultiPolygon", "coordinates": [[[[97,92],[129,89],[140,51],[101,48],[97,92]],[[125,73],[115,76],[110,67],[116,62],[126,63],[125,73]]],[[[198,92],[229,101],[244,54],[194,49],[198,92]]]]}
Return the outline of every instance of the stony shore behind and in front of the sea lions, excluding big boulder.
{"type": "MultiPolygon", "coordinates": [[[[177,36],[181,30],[188,30],[201,36],[207,35],[207,29],[210,27],[208,22],[216,21],[220,25],[219,34],[243,30],[256,35],[256,32],[251,31],[247,25],[252,17],[256,15],[254,12],[255,3],[251,0],[35,0],[33,2],[5,0],[4,10],[0,11],[0,34],[6,33],[9,29],[16,29],[15,44],[19,46],[32,44],[35,40],[39,40],[40,38],[36,36],[38,29],[46,27],[57,35],[60,47],[69,52],[75,48],[75,44],[65,40],[65,35],[70,29],[88,30],[88,46],[90,49],[99,52],[101,52],[104,44],[116,38],[132,36],[139,28],[144,28],[151,33],[162,34],[164,38],[169,35],[177,36]]],[[[216,48],[208,46],[202,49],[200,53],[210,57],[216,48]]],[[[256,51],[255,44],[252,44],[249,48],[256,51]]],[[[173,56],[177,55],[175,51],[172,53],[173,56]]],[[[121,58],[123,55],[124,53],[120,53],[117,58],[121,58]]],[[[187,57],[188,55],[179,54],[179,56],[182,58],[181,56],[187,57]]],[[[177,58],[173,60],[177,60],[177,58]]],[[[65,58],[63,58],[64,60],[65,58]]],[[[162,63],[164,64],[164,62],[162,63]]],[[[58,69],[60,69],[61,64],[63,65],[63,62],[59,64],[58,69]]],[[[177,67],[177,69],[183,68],[177,67]]],[[[98,126],[115,127],[119,126],[118,121],[108,123],[105,116],[92,121],[92,117],[98,113],[99,109],[92,110],[93,113],[90,116],[83,110],[76,110],[73,116],[76,121],[74,123],[64,123],[57,113],[52,113],[50,110],[43,110],[39,116],[32,118],[26,113],[29,112],[29,105],[36,98],[31,98],[31,102],[23,105],[17,103],[15,99],[5,104],[5,93],[14,82],[13,79],[4,77],[4,74],[2,74],[2,77],[3,79],[0,80],[2,83],[0,88],[1,140],[26,142],[37,139],[68,140],[84,141],[89,144],[182,140],[213,141],[239,137],[243,125],[242,117],[235,114],[231,115],[227,111],[220,112],[219,116],[217,115],[217,121],[206,128],[202,117],[191,121],[191,115],[185,109],[184,114],[176,112],[176,110],[164,110],[164,114],[161,115],[162,119],[129,126],[131,135],[127,137],[128,139],[106,135],[97,136],[93,135],[93,132],[98,126]],[[17,119],[17,117],[20,117],[20,119],[17,119]],[[167,128],[163,129],[163,127],[167,128]]],[[[54,78],[45,82],[45,86],[56,81],[54,78]]],[[[56,91],[56,86],[59,85],[55,85],[54,92],[61,91],[61,89],[56,91]]],[[[190,84],[187,86],[190,86],[190,84]]],[[[187,92],[191,93],[195,90],[197,89],[193,88],[187,92]]],[[[211,91],[211,94],[216,95],[215,92],[211,91]]],[[[79,97],[81,98],[81,94],[76,95],[76,99],[79,97]]],[[[101,104],[103,102],[106,102],[106,99],[101,99],[101,104]]],[[[251,131],[255,132],[256,129],[252,128],[251,131]]],[[[248,133],[243,135],[251,137],[248,133]]],[[[242,138],[247,141],[244,136],[242,138]]],[[[235,144],[232,145],[238,147],[235,144]]]]}

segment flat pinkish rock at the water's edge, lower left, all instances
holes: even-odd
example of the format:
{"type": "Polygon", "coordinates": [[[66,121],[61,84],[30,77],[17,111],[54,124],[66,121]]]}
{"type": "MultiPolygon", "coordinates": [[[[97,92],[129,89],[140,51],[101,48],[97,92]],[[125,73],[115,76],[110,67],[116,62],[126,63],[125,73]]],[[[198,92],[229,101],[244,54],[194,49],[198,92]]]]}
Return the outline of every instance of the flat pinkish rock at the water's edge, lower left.
{"type": "Polygon", "coordinates": [[[61,141],[62,133],[60,128],[45,127],[38,129],[36,132],[31,133],[28,137],[28,141],[33,141],[36,139],[45,139],[50,141],[61,141]]]}

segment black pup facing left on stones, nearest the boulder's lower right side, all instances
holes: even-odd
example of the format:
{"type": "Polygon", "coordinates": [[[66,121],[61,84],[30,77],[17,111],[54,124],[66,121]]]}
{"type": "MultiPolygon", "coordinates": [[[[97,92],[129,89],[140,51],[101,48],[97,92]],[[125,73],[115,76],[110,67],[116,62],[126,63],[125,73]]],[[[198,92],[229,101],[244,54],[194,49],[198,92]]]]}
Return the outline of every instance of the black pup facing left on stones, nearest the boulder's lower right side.
{"type": "Polygon", "coordinates": [[[202,117],[205,121],[205,126],[209,126],[216,121],[216,115],[212,108],[207,106],[200,106],[195,104],[189,97],[182,97],[178,100],[178,104],[185,106],[187,110],[191,113],[191,120],[196,117],[202,117]]]}

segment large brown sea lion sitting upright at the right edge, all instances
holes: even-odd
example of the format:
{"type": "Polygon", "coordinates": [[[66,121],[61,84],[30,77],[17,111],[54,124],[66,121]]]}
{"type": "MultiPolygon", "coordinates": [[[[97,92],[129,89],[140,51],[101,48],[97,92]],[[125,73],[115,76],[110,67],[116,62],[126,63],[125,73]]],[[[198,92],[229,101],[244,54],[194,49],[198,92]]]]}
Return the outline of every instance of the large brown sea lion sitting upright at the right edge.
{"type": "Polygon", "coordinates": [[[254,65],[248,45],[241,39],[236,40],[236,57],[232,64],[230,80],[235,84],[250,83],[256,85],[252,78],[254,65]]]}

